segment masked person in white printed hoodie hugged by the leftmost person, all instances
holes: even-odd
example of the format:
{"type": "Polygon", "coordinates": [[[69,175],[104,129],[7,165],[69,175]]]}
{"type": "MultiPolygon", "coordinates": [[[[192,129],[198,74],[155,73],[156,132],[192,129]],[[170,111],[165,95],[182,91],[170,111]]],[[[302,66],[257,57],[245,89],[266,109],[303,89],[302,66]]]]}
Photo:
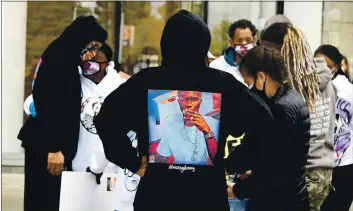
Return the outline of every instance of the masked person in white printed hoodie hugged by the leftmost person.
{"type": "Polygon", "coordinates": [[[106,161],[102,142],[93,124],[104,99],[126,81],[114,69],[111,57],[112,50],[105,44],[93,60],[79,67],[82,88],[81,124],[78,149],[72,161],[73,171],[86,171],[88,167],[93,172],[100,171],[100,168],[104,168],[104,172],[118,171],[116,165],[106,161]],[[102,162],[105,164],[102,165],[102,162]]]}

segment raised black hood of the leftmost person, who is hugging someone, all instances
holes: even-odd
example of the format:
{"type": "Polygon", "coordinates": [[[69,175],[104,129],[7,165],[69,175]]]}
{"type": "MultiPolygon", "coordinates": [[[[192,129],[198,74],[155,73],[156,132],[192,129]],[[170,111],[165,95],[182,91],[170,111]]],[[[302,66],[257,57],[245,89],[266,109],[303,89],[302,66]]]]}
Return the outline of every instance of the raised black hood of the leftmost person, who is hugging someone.
{"type": "Polygon", "coordinates": [[[93,16],[80,16],[44,51],[43,60],[62,59],[80,62],[81,51],[89,42],[95,40],[104,43],[107,31],[93,16]]]}

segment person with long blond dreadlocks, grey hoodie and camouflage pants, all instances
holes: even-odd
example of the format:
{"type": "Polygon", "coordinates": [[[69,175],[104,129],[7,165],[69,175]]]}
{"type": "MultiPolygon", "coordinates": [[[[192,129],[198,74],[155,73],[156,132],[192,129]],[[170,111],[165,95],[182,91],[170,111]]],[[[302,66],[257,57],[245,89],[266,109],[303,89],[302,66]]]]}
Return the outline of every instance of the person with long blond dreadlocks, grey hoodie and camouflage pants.
{"type": "Polygon", "coordinates": [[[314,59],[302,31],[289,23],[274,23],[263,34],[263,45],[281,51],[289,83],[310,109],[311,128],[306,182],[311,211],[319,211],[328,195],[334,167],[335,92],[324,60],[314,59]]]}

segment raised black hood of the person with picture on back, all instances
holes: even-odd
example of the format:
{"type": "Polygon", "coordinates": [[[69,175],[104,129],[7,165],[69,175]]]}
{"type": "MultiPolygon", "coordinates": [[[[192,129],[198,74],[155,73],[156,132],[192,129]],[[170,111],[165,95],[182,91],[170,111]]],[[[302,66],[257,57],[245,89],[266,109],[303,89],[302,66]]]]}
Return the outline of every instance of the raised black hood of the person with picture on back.
{"type": "Polygon", "coordinates": [[[203,67],[211,33],[201,18],[181,10],[166,23],[162,38],[162,66],[203,67]]]}

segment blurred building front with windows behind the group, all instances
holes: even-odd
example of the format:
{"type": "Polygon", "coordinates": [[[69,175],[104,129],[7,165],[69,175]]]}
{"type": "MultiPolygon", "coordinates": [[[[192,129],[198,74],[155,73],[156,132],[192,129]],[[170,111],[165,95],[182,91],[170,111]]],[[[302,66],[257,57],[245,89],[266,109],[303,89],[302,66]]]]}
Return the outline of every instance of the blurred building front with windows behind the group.
{"type": "MultiPolygon", "coordinates": [[[[353,65],[353,2],[2,2],[2,164],[24,164],[16,137],[26,119],[23,101],[31,93],[33,71],[43,50],[73,19],[97,17],[108,31],[117,69],[134,74],[159,65],[164,24],[182,8],[208,24],[210,52],[215,56],[228,46],[230,23],[245,18],[261,30],[268,18],[284,14],[304,31],[312,50],[321,44],[335,45],[353,65]]],[[[58,77],[64,76],[58,73],[58,77]]]]}

